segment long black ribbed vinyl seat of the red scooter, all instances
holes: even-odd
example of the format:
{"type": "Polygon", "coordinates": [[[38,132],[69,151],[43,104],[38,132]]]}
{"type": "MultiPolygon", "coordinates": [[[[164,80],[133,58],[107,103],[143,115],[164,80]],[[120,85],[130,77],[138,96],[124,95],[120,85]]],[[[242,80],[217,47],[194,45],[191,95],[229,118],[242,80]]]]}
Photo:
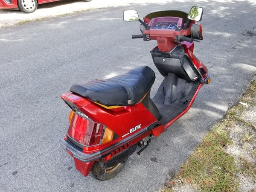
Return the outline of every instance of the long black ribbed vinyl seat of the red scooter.
{"type": "Polygon", "coordinates": [[[105,80],[74,84],[70,91],[105,106],[128,106],[140,102],[151,89],[155,73],[142,66],[105,80]]]}

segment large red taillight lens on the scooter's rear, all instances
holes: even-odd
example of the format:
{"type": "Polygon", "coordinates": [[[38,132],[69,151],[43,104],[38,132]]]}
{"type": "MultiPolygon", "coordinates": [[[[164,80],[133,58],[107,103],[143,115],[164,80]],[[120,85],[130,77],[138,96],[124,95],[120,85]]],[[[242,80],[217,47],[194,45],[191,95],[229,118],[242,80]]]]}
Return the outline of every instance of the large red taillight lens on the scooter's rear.
{"type": "Polygon", "coordinates": [[[67,133],[79,143],[96,145],[100,142],[103,125],[74,113],[67,133]]]}

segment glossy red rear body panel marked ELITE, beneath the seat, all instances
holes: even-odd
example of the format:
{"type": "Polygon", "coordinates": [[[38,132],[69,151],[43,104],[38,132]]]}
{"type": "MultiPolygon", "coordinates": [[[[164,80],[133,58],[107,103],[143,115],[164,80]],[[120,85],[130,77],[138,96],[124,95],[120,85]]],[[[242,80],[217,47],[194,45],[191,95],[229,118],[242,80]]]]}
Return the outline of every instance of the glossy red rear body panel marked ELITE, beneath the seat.
{"type": "MultiPolygon", "coordinates": [[[[64,93],[61,98],[74,103],[94,122],[107,126],[119,136],[117,139],[103,145],[95,145],[91,147],[84,146],[84,153],[93,153],[95,151],[102,150],[103,148],[113,145],[113,143],[117,143],[120,140],[130,136],[131,128],[140,125],[140,129],[142,129],[157,121],[157,119],[141,103],[118,108],[117,110],[105,109],[100,105],[91,102],[89,99],[83,98],[73,93],[64,93]],[[147,118],[145,118],[145,116],[147,118]],[[125,134],[127,135],[122,137],[125,134]]],[[[136,133],[137,131],[134,131],[132,134],[136,133]]],[[[70,136],[72,137],[75,134],[76,133],[73,133],[73,135],[70,136]]]]}

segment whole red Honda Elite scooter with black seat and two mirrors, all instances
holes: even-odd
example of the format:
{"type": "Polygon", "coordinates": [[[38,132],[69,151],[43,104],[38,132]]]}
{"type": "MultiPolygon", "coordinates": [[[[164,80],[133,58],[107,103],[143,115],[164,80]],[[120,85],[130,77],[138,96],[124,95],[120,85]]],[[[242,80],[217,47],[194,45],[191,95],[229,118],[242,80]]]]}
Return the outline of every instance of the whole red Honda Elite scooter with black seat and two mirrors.
{"type": "Polygon", "coordinates": [[[61,145],[74,157],[76,169],[98,180],[108,180],[124,167],[137,146],[140,154],[191,107],[204,84],[207,68],[193,54],[194,41],[203,39],[203,8],[153,12],[140,20],[137,11],[125,10],[125,21],[140,21],[144,41],[156,40],[151,55],[164,80],[153,99],[155,73],[138,67],[109,79],[74,84],[61,98],[72,109],[61,145]]]}

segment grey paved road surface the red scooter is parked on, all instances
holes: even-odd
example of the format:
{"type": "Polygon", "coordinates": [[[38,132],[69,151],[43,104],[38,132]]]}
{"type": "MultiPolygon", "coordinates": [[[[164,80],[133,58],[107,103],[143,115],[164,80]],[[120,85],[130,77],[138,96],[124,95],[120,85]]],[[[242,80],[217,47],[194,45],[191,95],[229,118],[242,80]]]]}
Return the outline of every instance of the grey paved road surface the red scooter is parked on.
{"type": "Polygon", "coordinates": [[[174,177],[202,137],[238,101],[256,71],[255,1],[168,1],[120,6],[0,29],[0,191],[156,191],[174,177]],[[59,145],[70,109],[60,99],[74,83],[148,65],[155,41],[131,39],[138,22],[124,9],[153,11],[204,7],[204,40],[195,55],[212,82],[186,115],[108,181],[83,177],[59,145]]]}

